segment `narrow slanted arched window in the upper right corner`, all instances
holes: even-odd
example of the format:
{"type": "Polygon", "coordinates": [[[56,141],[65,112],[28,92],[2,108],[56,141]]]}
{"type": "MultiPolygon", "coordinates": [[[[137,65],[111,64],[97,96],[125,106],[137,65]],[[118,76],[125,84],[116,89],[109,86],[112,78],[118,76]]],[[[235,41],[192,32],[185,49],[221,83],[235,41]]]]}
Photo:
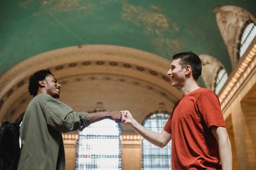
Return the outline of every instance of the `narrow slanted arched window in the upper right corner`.
{"type": "Polygon", "coordinates": [[[246,52],[247,48],[251,44],[251,41],[256,36],[256,26],[252,21],[247,22],[246,27],[244,28],[241,41],[240,41],[240,51],[239,56],[242,57],[246,52]]]}

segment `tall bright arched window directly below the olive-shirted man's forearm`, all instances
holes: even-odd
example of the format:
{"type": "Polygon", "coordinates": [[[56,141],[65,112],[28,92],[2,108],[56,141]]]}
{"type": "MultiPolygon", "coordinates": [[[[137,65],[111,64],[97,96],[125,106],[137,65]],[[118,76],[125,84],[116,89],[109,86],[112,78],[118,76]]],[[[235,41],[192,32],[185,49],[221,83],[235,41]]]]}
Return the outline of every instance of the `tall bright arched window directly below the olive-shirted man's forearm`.
{"type": "Polygon", "coordinates": [[[93,123],[79,132],[76,169],[121,169],[119,125],[111,119],[93,123]]]}

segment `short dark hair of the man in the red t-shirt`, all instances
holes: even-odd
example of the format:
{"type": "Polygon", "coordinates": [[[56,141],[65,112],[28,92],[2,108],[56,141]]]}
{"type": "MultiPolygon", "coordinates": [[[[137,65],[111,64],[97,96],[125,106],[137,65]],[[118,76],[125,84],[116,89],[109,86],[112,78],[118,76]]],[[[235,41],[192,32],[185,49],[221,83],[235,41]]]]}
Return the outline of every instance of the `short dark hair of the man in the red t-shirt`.
{"type": "Polygon", "coordinates": [[[173,59],[180,59],[180,65],[184,68],[190,65],[192,68],[192,76],[197,81],[202,72],[202,63],[200,58],[193,52],[178,53],[173,56],[173,59]]]}

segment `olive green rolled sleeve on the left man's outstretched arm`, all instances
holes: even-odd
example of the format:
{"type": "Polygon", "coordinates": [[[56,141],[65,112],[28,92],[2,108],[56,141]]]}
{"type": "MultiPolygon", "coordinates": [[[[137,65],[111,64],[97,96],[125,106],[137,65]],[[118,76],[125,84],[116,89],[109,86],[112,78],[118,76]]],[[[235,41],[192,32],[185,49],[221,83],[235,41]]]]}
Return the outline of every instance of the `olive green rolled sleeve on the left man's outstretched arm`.
{"type": "Polygon", "coordinates": [[[91,124],[88,113],[73,112],[68,105],[52,98],[47,98],[44,113],[47,124],[61,132],[82,130],[91,124]]]}

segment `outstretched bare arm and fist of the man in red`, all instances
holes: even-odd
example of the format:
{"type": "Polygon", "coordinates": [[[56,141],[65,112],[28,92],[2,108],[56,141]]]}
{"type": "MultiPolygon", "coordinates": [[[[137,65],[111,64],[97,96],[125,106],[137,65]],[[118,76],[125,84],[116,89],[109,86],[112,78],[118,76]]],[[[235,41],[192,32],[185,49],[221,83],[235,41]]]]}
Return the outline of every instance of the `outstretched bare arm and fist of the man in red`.
{"type": "Polygon", "coordinates": [[[140,125],[132,116],[132,114],[127,111],[121,111],[122,113],[122,120],[121,122],[126,125],[130,125],[137,133],[143,136],[146,140],[150,141],[151,143],[157,145],[158,147],[165,147],[165,145],[170,141],[171,135],[166,132],[162,131],[161,133],[157,133],[151,130],[144,128],[140,125]]]}

